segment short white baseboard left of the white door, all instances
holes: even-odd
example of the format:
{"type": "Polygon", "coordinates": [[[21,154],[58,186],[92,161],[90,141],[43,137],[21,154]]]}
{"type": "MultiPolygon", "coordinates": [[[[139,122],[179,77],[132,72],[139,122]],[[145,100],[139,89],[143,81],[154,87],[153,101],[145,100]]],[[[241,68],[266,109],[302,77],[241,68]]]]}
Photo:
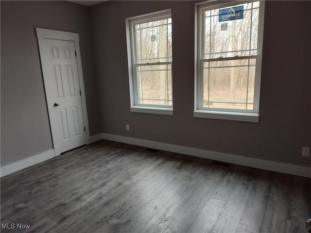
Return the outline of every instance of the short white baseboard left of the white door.
{"type": "Polygon", "coordinates": [[[41,163],[41,162],[46,161],[48,159],[51,159],[53,157],[55,157],[54,150],[48,150],[48,151],[45,151],[43,153],[31,156],[29,158],[19,160],[15,163],[8,164],[5,166],[1,166],[1,168],[0,168],[1,177],[9,175],[13,172],[19,171],[19,170],[24,169],[26,167],[33,166],[35,164],[41,163]]]}

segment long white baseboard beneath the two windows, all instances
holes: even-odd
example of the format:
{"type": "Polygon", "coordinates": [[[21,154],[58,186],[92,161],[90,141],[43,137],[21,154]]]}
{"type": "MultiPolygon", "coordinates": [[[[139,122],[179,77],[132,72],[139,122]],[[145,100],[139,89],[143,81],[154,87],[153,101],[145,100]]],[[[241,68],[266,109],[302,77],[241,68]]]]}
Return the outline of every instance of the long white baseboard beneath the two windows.
{"type": "Polygon", "coordinates": [[[162,142],[155,142],[149,140],[143,140],[132,137],[125,137],[120,135],[102,133],[102,138],[111,141],[117,141],[132,145],[137,145],[141,147],[154,148],[157,150],[166,150],[180,154],[186,154],[190,156],[206,158],[211,160],[222,161],[231,164],[237,164],[242,166],[250,166],[264,170],[276,171],[280,173],[286,173],[296,176],[303,176],[311,178],[311,167],[307,166],[297,166],[291,164],[284,164],[274,161],[262,160],[244,157],[240,155],[227,154],[222,152],[216,152],[211,150],[202,150],[191,147],[183,147],[173,144],[167,144],[162,142]]]}

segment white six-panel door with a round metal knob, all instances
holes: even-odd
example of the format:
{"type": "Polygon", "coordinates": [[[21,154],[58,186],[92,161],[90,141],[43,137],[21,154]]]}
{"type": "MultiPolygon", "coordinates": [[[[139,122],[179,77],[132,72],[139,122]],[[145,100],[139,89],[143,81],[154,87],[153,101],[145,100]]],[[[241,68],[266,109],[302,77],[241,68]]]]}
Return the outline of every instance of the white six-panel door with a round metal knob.
{"type": "Polygon", "coordinates": [[[58,155],[86,144],[75,42],[41,38],[39,50],[53,145],[58,155]]]}

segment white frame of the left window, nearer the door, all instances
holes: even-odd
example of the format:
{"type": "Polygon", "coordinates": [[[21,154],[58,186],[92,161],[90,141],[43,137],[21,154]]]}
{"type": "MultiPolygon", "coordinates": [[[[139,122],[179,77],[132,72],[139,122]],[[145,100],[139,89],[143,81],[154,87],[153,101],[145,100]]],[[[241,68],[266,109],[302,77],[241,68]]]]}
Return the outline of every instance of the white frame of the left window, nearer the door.
{"type": "MultiPolygon", "coordinates": [[[[137,49],[136,49],[136,36],[135,25],[150,21],[156,21],[166,18],[171,18],[171,9],[150,13],[137,17],[130,17],[125,20],[126,22],[126,42],[127,42],[127,57],[128,57],[128,73],[130,84],[130,111],[137,113],[150,113],[173,116],[173,61],[171,62],[157,62],[148,63],[148,66],[152,65],[171,65],[172,74],[172,105],[160,105],[160,104],[141,104],[138,101],[138,77],[137,77],[137,49]]],[[[172,20],[173,22],[173,20],[172,20]]],[[[147,65],[147,64],[146,64],[147,65]]],[[[143,65],[139,65],[143,66],[143,65]]]]}

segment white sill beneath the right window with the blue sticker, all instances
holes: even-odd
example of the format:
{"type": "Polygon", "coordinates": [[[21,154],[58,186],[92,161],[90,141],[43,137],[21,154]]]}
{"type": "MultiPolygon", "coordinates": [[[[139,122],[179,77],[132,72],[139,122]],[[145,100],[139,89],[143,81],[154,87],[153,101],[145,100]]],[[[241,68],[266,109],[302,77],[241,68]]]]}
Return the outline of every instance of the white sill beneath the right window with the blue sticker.
{"type": "Polygon", "coordinates": [[[259,114],[257,113],[239,113],[239,112],[220,112],[220,111],[207,111],[195,110],[194,117],[221,119],[221,120],[237,120],[248,122],[259,122],[259,114]]]}

